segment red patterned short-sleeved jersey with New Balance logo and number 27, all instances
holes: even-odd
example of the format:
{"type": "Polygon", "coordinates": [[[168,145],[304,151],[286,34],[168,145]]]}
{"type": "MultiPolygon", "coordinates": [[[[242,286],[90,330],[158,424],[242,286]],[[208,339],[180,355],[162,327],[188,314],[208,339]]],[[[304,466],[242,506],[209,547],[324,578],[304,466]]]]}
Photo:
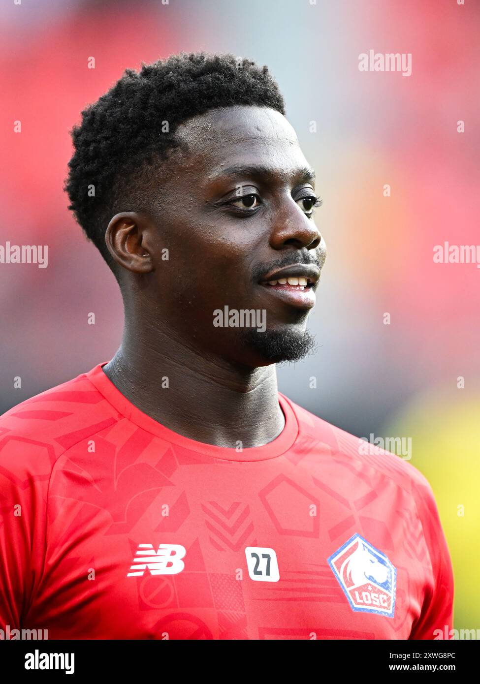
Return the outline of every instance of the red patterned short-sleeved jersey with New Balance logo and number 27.
{"type": "Polygon", "coordinates": [[[366,455],[281,393],[272,442],[203,444],[131,404],[105,363],[0,418],[0,630],[259,640],[452,629],[449,550],[412,464],[366,455]]]}

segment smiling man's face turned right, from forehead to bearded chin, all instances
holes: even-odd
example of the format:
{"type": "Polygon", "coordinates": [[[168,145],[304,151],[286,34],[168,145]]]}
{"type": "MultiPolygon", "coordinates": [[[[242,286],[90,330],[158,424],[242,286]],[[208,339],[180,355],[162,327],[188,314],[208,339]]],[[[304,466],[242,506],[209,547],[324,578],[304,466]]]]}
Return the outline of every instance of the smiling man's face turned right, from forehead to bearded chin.
{"type": "Polygon", "coordinates": [[[188,120],[176,137],[148,245],[160,324],[242,365],[301,358],[326,252],[294,130],[273,109],[235,106],[188,120]],[[270,284],[294,276],[307,285],[270,284]]]}

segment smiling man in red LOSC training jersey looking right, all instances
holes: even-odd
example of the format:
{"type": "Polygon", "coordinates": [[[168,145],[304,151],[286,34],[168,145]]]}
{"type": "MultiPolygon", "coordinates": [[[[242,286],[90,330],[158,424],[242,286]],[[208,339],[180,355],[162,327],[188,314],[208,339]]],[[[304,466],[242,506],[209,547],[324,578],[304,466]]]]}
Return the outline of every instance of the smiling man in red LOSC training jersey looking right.
{"type": "Polygon", "coordinates": [[[433,639],[451,560],[414,466],[277,391],[312,350],[314,173],[266,67],[170,57],[73,131],[66,189],[120,349],[3,415],[0,628],[49,638],[433,639]]]}

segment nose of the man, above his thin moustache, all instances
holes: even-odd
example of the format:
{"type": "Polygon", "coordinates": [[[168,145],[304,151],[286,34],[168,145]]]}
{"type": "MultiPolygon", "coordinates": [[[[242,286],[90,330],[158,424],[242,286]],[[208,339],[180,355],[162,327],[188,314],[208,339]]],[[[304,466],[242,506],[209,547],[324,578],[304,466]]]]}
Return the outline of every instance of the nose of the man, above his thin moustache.
{"type": "Polygon", "coordinates": [[[313,218],[308,218],[292,198],[283,202],[283,206],[275,212],[270,246],[275,250],[281,250],[286,245],[314,250],[321,241],[322,236],[313,218]]]}

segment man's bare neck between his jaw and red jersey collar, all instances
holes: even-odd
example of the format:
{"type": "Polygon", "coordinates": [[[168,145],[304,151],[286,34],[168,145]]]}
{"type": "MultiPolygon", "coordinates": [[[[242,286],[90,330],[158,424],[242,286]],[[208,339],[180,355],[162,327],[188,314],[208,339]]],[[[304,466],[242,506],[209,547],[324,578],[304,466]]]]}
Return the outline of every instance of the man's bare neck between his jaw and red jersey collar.
{"type": "Polygon", "coordinates": [[[177,339],[127,331],[103,367],[116,388],[169,430],[218,447],[260,447],[285,425],[275,365],[247,369],[205,358],[177,339]]]}

